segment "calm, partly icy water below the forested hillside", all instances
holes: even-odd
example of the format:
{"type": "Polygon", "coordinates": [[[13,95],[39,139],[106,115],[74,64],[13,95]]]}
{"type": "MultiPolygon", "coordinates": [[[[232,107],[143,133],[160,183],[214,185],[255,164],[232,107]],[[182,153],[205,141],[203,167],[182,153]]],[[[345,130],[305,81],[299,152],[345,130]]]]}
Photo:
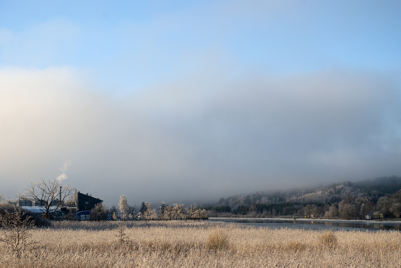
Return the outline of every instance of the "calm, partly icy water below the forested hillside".
{"type": "Polygon", "coordinates": [[[209,221],[235,222],[267,228],[300,228],[300,229],[334,229],[334,230],[401,230],[401,222],[375,220],[312,220],[292,219],[259,219],[259,218],[209,218],[209,221]]]}

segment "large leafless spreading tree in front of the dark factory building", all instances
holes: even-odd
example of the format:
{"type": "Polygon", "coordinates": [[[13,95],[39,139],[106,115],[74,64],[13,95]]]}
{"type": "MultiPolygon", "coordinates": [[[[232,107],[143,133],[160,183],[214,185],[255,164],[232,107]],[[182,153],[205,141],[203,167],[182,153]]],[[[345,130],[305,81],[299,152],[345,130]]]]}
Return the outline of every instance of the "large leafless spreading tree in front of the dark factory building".
{"type": "Polygon", "coordinates": [[[24,193],[16,193],[16,196],[22,200],[39,202],[43,206],[42,216],[44,219],[51,218],[67,200],[69,195],[75,191],[75,187],[70,187],[68,184],[62,185],[59,181],[49,180],[33,183],[25,187],[24,193]]]}

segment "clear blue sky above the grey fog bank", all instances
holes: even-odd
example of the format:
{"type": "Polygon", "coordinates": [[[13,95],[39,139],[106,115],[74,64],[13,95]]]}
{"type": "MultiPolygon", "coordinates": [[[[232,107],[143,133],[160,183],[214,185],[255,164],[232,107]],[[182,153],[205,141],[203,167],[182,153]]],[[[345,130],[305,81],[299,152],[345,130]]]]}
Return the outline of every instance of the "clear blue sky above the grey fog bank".
{"type": "Polygon", "coordinates": [[[262,75],[332,66],[391,72],[401,62],[399,5],[2,1],[1,66],[71,66],[110,90],[193,75],[205,56],[221,69],[262,75]]]}

